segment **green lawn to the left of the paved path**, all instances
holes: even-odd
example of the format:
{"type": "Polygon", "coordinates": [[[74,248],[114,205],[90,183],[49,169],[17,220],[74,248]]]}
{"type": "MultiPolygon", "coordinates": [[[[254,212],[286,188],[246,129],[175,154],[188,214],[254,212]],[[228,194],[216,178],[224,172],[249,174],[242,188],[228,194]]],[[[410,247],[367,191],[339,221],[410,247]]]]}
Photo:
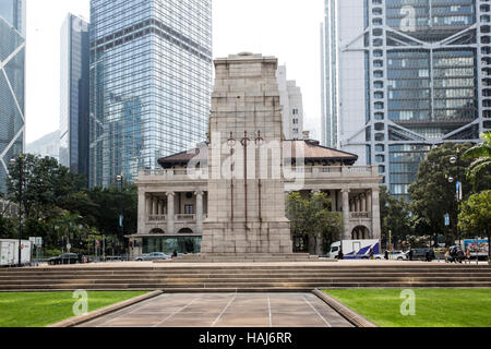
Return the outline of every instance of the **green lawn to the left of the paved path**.
{"type": "MultiPolygon", "coordinates": [[[[88,291],[88,312],[146,292],[88,291]]],[[[72,292],[0,292],[0,327],[45,327],[73,317],[72,292]]]]}

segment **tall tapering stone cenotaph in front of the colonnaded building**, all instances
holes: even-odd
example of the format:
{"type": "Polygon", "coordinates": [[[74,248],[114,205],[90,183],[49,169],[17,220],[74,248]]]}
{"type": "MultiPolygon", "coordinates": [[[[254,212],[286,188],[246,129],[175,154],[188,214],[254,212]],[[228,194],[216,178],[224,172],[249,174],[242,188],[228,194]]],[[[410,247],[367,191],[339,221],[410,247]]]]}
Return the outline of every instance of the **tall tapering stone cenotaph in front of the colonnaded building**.
{"type": "Polygon", "coordinates": [[[277,59],[215,60],[204,254],[291,254],[277,59]]]}

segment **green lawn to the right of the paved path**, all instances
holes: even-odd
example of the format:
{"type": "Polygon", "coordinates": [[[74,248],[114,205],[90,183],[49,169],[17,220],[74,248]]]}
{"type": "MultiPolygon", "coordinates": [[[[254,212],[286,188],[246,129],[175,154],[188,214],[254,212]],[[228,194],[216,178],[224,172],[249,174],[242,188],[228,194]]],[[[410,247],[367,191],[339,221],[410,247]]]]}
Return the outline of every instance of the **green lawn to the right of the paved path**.
{"type": "Polygon", "coordinates": [[[414,289],[416,315],[404,316],[400,289],[326,290],[381,327],[491,327],[491,289],[414,289]]]}

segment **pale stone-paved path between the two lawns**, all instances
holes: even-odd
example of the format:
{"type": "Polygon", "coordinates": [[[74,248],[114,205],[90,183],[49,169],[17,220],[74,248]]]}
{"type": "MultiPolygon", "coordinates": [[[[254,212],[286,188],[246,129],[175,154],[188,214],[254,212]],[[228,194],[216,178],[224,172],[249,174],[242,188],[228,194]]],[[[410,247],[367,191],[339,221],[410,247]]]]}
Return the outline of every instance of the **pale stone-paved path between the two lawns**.
{"type": "Polygon", "coordinates": [[[352,327],[312,293],[161,294],[80,327],[352,327]]]}

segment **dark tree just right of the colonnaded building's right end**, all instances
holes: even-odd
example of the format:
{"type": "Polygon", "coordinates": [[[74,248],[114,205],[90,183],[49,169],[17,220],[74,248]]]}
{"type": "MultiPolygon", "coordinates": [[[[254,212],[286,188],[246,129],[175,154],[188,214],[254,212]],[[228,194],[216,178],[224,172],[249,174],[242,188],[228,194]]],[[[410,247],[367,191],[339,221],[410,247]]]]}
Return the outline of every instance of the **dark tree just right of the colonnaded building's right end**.
{"type": "Polygon", "coordinates": [[[382,237],[388,241],[388,231],[392,231],[394,242],[404,241],[412,233],[409,203],[392,196],[386,186],[381,186],[380,193],[382,237]]]}

